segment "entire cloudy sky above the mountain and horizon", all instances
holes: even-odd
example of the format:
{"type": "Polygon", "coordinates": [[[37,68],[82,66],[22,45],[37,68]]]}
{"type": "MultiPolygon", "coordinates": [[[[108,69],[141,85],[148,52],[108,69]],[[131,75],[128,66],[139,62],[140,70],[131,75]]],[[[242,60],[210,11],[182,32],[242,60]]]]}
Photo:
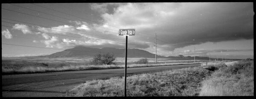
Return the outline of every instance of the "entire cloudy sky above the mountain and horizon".
{"type": "Polygon", "coordinates": [[[150,53],[156,35],[161,56],[245,59],[254,54],[253,3],[248,2],[2,3],[1,14],[2,57],[47,55],[77,45],[125,48],[121,28],[135,28],[128,48],[150,53]]]}

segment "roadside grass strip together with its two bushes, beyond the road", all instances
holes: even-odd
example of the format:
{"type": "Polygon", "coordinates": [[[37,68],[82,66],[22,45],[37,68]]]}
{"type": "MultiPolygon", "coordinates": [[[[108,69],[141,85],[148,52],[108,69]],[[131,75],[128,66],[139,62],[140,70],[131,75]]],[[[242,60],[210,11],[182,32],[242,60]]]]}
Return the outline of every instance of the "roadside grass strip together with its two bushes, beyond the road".
{"type": "MultiPolygon", "coordinates": [[[[26,63],[10,63],[2,62],[3,74],[25,74],[53,71],[75,71],[75,70],[96,70],[96,69],[112,69],[124,68],[124,65],[116,65],[114,54],[96,54],[89,64],[81,65],[75,63],[42,63],[42,62],[26,62],[26,63]]],[[[171,64],[147,64],[147,59],[140,59],[136,64],[127,65],[128,68],[163,66],[163,65],[182,65],[182,64],[198,64],[198,63],[171,63],[171,64]]]]}

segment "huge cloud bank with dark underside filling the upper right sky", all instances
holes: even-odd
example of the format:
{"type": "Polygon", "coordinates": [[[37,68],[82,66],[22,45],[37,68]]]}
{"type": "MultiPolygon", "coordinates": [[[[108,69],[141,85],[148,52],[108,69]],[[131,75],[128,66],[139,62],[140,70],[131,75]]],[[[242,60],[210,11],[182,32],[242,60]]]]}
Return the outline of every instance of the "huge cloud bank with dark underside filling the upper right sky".
{"type": "Polygon", "coordinates": [[[253,3],[125,3],[113,13],[108,4],[91,8],[105,8],[100,12],[109,29],[135,28],[135,37],[142,36],[138,37],[142,41],[159,33],[158,44],[171,51],[205,42],[253,39],[253,3]]]}

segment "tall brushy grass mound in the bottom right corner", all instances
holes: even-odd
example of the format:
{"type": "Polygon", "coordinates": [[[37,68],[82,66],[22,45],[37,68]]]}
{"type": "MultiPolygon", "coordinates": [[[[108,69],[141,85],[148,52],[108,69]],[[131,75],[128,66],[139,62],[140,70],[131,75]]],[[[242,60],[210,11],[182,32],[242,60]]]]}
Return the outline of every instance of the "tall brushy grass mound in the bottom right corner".
{"type": "Polygon", "coordinates": [[[221,67],[202,82],[200,96],[253,96],[253,61],[238,61],[221,67]]]}

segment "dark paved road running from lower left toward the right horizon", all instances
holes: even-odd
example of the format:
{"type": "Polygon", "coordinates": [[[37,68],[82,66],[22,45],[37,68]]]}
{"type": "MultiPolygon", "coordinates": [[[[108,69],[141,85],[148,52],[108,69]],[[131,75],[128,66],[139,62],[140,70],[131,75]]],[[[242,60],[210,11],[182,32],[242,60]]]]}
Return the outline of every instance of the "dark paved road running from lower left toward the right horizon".
{"type": "MultiPolygon", "coordinates": [[[[127,76],[196,66],[200,64],[127,68],[127,76]]],[[[124,76],[124,68],[3,75],[2,95],[3,97],[65,96],[65,92],[76,85],[114,76],[124,76]]]]}

